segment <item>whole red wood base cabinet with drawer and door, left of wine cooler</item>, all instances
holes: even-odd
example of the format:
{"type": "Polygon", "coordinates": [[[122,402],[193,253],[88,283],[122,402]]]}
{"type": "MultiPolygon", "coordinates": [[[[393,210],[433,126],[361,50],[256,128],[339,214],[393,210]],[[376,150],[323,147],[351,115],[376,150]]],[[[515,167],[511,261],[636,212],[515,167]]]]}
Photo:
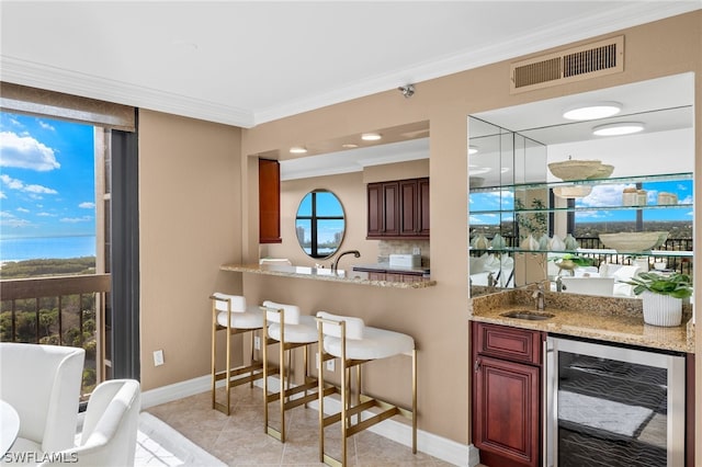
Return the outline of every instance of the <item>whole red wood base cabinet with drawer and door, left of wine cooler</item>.
{"type": "Polygon", "coordinates": [[[544,335],[472,323],[473,443],[489,466],[541,464],[544,335]]]}

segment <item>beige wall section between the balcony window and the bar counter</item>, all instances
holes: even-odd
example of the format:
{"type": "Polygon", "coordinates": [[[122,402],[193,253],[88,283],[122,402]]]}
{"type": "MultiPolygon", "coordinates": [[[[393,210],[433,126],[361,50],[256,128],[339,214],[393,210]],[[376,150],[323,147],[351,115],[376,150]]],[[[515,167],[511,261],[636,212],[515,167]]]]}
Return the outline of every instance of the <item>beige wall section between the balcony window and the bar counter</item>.
{"type": "Polygon", "coordinates": [[[143,389],[210,373],[215,291],[240,293],[219,272],[241,260],[240,129],[139,112],[143,389]],[[155,367],[162,349],[166,364],[155,367]]]}

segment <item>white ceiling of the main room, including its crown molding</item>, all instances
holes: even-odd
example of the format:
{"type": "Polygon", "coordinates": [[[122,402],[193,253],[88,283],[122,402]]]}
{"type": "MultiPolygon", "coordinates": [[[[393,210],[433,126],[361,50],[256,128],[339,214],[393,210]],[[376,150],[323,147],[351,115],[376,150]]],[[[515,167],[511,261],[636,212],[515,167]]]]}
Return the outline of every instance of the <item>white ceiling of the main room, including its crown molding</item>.
{"type": "Polygon", "coordinates": [[[0,79],[251,127],[701,8],[2,0],[0,79]]]}

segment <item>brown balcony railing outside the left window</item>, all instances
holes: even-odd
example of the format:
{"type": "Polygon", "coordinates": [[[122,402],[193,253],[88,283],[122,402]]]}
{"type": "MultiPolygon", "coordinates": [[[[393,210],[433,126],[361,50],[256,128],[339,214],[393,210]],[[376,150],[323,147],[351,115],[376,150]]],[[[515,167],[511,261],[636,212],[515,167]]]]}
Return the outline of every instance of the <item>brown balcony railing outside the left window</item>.
{"type": "Polygon", "coordinates": [[[82,394],[101,380],[110,274],[0,281],[0,341],[86,350],[82,394]]]}

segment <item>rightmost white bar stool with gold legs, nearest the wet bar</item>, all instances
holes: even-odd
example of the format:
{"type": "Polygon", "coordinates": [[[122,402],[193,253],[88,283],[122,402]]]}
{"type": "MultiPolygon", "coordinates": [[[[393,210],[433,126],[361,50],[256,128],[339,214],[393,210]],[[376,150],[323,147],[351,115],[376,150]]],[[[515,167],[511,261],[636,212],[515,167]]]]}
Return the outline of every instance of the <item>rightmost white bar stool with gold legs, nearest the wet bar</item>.
{"type": "Polygon", "coordinates": [[[325,414],[325,380],[324,372],[319,372],[319,460],[331,465],[347,465],[347,440],[354,434],[373,426],[383,420],[396,414],[401,414],[412,423],[412,454],[417,454],[417,350],[415,340],[399,332],[372,328],[364,324],[360,318],[332,315],[326,311],[317,312],[317,329],[319,352],[319,366],[331,358],[341,361],[341,412],[331,415],[325,414]],[[363,395],[361,384],[361,365],[374,360],[386,358],[399,354],[411,356],[412,365],[412,408],[403,409],[366,395],[363,395]],[[355,405],[351,405],[351,368],[356,368],[356,397],[355,405]],[[361,420],[361,412],[377,407],[380,412],[373,417],[361,420]],[[355,415],[355,422],[352,418],[355,415]],[[325,428],[336,422],[341,422],[341,459],[325,453],[325,428]]]}

